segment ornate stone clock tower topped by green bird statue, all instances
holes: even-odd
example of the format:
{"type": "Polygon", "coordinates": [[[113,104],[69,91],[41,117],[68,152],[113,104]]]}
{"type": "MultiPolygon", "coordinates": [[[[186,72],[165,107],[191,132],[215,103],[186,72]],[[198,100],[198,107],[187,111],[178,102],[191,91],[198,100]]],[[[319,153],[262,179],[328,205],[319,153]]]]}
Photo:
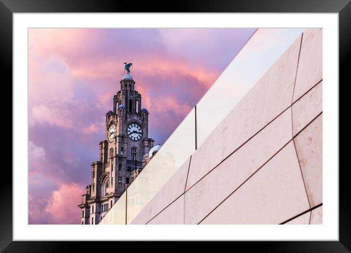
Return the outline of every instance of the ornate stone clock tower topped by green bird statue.
{"type": "Polygon", "coordinates": [[[121,89],[113,96],[113,111],[106,113],[99,160],[91,164],[91,184],[78,205],[83,225],[100,222],[160,147],[153,147],[154,140],[148,136],[149,112],[141,109],[141,95],[134,89],[130,66],[125,66],[121,89]]]}

